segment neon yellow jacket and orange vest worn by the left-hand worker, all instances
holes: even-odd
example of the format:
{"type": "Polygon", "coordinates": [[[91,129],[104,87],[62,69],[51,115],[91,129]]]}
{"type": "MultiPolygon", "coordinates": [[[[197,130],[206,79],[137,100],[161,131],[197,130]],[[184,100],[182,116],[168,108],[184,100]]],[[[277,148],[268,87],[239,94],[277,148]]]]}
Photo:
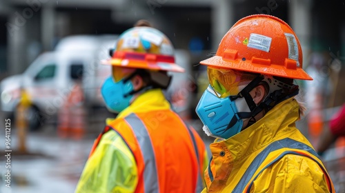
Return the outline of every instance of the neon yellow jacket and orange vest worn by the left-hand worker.
{"type": "Polygon", "coordinates": [[[144,92],[107,122],[76,192],[201,192],[204,188],[205,145],[170,110],[160,89],[144,92]]]}

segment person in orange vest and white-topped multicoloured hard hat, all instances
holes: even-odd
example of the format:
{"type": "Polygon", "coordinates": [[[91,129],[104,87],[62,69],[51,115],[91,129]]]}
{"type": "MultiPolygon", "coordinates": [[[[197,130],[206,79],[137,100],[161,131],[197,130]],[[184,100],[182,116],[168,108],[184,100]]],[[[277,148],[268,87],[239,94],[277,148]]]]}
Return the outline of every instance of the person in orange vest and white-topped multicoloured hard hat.
{"type": "Polygon", "coordinates": [[[175,64],[172,43],[143,26],[120,35],[112,76],[101,88],[118,112],[95,141],[76,192],[201,192],[207,154],[197,132],[171,110],[162,90],[175,64]]]}

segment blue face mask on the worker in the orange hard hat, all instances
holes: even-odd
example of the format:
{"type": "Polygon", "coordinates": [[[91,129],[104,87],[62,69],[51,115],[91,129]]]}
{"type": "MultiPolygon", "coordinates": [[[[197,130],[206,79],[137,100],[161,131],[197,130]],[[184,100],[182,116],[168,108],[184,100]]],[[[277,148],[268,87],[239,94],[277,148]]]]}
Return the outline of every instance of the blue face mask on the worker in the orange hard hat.
{"type": "Polygon", "coordinates": [[[235,101],[231,101],[229,97],[218,98],[210,85],[201,96],[196,112],[210,132],[206,132],[208,135],[228,139],[242,129],[243,119],[238,116],[235,101]]]}

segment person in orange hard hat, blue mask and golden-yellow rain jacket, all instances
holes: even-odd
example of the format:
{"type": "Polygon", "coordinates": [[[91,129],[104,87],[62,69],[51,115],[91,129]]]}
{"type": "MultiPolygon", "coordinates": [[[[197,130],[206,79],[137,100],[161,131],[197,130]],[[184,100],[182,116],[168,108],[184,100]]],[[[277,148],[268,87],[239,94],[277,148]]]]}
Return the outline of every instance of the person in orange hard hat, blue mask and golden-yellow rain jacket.
{"type": "Polygon", "coordinates": [[[210,85],[196,111],[217,139],[203,192],[335,192],[311,143],[295,127],[303,106],[294,79],[302,49],[287,23],[244,17],[225,34],[207,65],[210,85]]]}

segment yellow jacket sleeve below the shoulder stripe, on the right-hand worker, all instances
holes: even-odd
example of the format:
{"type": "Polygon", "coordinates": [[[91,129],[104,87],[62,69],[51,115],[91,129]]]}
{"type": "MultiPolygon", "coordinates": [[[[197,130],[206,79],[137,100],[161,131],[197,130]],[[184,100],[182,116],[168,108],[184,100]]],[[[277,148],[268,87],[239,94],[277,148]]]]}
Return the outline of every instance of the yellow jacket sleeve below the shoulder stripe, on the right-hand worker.
{"type": "Polygon", "coordinates": [[[287,155],[259,174],[250,192],[329,192],[329,190],[326,176],[315,161],[303,156],[287,155]]]}

